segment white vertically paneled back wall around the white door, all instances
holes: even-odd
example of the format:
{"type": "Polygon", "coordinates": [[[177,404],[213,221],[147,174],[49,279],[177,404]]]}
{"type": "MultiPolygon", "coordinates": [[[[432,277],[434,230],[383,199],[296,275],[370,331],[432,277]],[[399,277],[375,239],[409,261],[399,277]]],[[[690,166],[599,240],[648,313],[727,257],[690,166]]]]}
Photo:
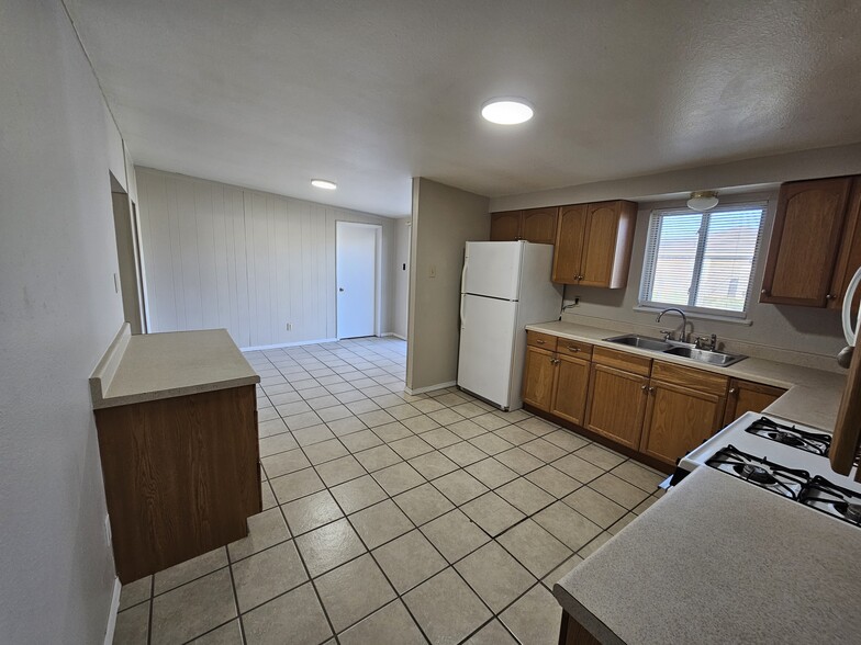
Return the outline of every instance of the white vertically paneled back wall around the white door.
{"type": "Polygon", "coordinates": [[[148,168],[137,189],[150,331],[224,327],[239,347],[335,338],[335,223],[381,224],[391,262],[385,217],[148,168]]]}

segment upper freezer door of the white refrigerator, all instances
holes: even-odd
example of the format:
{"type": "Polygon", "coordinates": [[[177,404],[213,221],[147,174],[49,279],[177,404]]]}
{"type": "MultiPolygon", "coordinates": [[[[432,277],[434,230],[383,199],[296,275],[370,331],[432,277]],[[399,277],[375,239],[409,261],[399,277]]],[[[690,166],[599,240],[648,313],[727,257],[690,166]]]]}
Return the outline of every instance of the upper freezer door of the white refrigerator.
{"type": "Polygon", "coordinates": [[[461,293],[505,301],[519,299],[525,245],[518,241],[467,242],[461,293]]]}

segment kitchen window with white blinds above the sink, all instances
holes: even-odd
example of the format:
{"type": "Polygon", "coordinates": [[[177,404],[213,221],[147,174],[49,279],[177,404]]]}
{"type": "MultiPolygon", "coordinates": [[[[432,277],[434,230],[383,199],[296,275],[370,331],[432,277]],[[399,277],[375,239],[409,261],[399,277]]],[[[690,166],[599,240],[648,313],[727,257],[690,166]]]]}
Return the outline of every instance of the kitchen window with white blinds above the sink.
{"type": "Polygon", "coordinates": [[[640,305],[743,317],[764,212],[764,204],[653,212],[640,305]]]}

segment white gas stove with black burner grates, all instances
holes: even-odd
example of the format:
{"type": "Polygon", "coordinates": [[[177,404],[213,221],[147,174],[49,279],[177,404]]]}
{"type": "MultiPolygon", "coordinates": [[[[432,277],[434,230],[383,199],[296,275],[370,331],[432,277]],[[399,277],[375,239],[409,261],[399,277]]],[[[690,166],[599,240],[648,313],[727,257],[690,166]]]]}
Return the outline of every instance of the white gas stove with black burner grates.
{"type": "Polygon", "coordinates": [[[698,467],[711,467],[772,494],[861,527],[861,483],[831,471],[831,435],[816,428],[746,412],[681,459],[678,484],[698,467]]]}

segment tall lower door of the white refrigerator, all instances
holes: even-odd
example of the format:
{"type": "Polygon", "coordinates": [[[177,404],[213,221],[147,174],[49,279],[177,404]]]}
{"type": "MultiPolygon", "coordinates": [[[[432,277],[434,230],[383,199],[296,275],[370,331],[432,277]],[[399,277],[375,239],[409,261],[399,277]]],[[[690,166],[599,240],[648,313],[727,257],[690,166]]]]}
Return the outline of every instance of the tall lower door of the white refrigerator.
{"type": "Polygon", "coordinates": [[[508,408],[512,404],[517,303],[463,295],[458,385],[508,408]]]}

